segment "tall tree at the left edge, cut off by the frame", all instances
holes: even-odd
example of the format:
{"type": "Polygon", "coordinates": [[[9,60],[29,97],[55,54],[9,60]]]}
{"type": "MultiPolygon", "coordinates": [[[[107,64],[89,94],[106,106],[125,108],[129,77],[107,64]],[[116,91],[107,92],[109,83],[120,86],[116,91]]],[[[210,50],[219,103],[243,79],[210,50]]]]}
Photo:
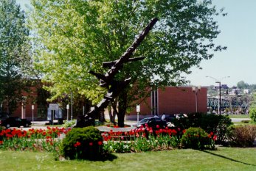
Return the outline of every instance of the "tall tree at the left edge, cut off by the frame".
{"type": "Polygon", "coordinates": [[[22,101],[21,92],[27,87],[24,73],[31,65],[28,35],[20,6],[15,0],[0,1],[0,103],[10,113],[22,101]]]}

